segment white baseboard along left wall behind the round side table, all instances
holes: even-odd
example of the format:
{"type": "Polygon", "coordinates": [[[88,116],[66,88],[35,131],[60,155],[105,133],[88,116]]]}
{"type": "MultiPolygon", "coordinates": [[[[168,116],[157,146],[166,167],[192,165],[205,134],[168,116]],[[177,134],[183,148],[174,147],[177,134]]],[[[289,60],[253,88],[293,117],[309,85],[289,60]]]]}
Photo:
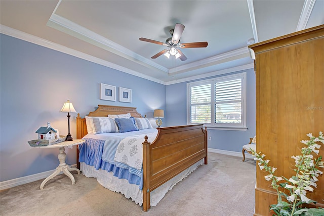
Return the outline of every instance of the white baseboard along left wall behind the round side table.
{"type": "MultiPolygon", "coordinates": [[[[76,167],[76,165],[71,165],[71,167],[76,167]]],[[[17,179],[11,179],[11,180],[0,182],[0,190],[12,188],[18,185],[27,184],[29,182],[34,182],[40,179],[45,179],[48,176],[50,176],[52,173],[54,173],[54,171],[55,170],[49,170],[42,173],[36,173],[30,176],[24,176],[17,179]]],[[[61,172],[59,175],[61,175],[62,173],[63,172],[61,172]]]]}

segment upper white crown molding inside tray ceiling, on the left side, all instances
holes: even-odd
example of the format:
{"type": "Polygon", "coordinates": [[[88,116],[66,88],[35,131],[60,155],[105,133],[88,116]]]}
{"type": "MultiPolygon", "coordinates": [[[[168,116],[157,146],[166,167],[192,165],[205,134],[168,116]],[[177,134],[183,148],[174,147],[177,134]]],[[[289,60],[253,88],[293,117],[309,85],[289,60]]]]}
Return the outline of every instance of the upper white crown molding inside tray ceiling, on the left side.
{"type": "Polygon", "coordinates": [[[121,46],[83,26],[80,26],[64,17],[61,17],[56,14],[52,14],[47,24],[50,27],[53,27],[57,30],[63,31],[64,33],[75,36],[79,39],[85,40],[86,42],[90,42],[93,45],[96,45],[100,48],[104,48],[115,55],[126,58],[130,61],[136,62],[138,64],[142,64],[147,67],[147,65],[154,67],[158,70],[164,71],[168,73],[168,69],[163,67],[151,60],[148,60],[137,53],[131,51],[130,49],[121,46]],[[53,25],[54,24],[54,25],[53,25]],[[58,25],[58,27],[56,26],[58,25]]]}

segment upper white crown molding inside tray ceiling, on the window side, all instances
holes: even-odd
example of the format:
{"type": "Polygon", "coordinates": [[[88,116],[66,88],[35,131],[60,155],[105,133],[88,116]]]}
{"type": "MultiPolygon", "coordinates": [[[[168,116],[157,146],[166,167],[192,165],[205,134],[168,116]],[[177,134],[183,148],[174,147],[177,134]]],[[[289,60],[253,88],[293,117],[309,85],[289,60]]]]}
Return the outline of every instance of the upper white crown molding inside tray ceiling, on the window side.
{"type": "Polygon", "coordinates": [[[190,70],[192,68],[202,67],[202,66],[208,65],[208,64],[214,64],[214,63],[216,63],[218,61],[222,61],[222,60],[225,60],[225,59],[233,58],[235,56],[239,56],[239,55],[242,55],[242,54],[248,54],[248,53],[249,53],[248,47],[239,48],[239,49],[229,51],[229,52],[225,52],[225,53],[222,53],[220,55],[213,56],[213,57],[210,57],[210,58],[207,58],[207,59],[199,60],[199,61],[192,62],[192,63],[182,65],[182,66],[178,66],[176,68],[171,68],[169,70],[169,74],[171,74],[174,70],[176,70],[177,72],[190,70]]]}

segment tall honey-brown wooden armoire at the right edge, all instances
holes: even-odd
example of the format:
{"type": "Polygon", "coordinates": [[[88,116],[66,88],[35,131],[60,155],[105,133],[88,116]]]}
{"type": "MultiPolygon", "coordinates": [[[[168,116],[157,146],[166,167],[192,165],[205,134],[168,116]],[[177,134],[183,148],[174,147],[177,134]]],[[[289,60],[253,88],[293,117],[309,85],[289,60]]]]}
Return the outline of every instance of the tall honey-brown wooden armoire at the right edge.
{"type": "MultiPolygon", "coordinates": [[[[257,152],[270,159],[276,176],[289,179],[296,174],[291,156],[305,146],[300,141],[324,132],[324,25],[249,48],[255,55],[257,152]]],[[[324,145],[318,155],[324,158],[324,145]]],[[[265,175],[257,166],[254,215],[272,215],[269,205],[277,200],[265,175]]],[[[324,207],[324,176],[318,179],[306,196],[324,207]]]]}

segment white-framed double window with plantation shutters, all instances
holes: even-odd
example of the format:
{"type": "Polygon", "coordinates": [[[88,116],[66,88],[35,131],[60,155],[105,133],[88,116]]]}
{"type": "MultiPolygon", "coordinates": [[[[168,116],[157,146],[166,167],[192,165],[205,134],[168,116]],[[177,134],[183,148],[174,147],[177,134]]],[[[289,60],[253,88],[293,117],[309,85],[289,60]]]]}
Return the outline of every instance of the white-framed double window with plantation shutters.
{"type": "Polygon", "coordinates": [[[187,83],[187,122],[246,130],[246,72],[187,83]]]}

